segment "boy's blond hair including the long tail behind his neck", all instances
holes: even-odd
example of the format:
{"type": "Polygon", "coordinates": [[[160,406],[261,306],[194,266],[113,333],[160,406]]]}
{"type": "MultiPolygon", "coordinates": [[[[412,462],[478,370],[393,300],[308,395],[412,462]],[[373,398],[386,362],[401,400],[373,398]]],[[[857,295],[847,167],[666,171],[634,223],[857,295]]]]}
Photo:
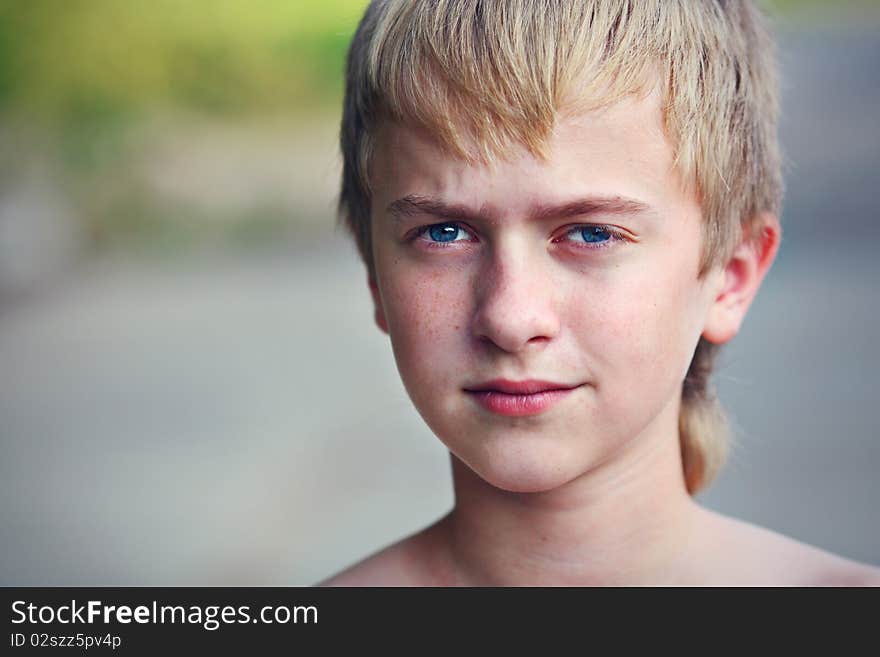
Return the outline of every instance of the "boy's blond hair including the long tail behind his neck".
{"type": "MultiPolygon", "coordinates": [[[[563,112],[658,82],[676,166],[703,210],[702,277],[781,203],[773,47],[751,2],[374,0],[348,56],[340,197],[370,274],[368,171],[383,120],[424,128],[469,161],[490,162],[517,144],[543,156],[563,112]]],[[[709,380],[718,348],[700,338],[682,382],[691,493],[711,482],[728,445],[709,380]]]]}

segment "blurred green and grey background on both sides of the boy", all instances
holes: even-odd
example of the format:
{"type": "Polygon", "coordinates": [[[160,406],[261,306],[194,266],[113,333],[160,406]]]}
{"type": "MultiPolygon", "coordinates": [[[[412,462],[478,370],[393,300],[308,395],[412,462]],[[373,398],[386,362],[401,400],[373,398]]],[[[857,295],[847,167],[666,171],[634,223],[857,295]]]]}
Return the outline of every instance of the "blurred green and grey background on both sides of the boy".
{"type": "MultiPolygon", "coordinates": [[[[880,564],[880,7],[823,5],[770,6],[785,235],[701,499],[880,564]]],[[[364,6],[0,0],[0,585],[311,584],[450,508],[335,226],[364,6]]]]}

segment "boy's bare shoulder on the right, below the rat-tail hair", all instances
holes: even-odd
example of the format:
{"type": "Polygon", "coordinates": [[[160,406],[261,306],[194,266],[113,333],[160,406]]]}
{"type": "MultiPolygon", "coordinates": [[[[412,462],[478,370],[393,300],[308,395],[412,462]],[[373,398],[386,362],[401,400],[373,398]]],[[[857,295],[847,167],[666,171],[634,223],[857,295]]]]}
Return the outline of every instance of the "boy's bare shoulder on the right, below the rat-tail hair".
{"type": "Polygon", "coordinates": [[[711,513],[711,579],[748,586],[880,586],[880,568],[711,513]]]}

